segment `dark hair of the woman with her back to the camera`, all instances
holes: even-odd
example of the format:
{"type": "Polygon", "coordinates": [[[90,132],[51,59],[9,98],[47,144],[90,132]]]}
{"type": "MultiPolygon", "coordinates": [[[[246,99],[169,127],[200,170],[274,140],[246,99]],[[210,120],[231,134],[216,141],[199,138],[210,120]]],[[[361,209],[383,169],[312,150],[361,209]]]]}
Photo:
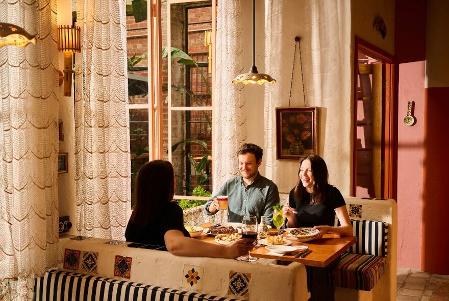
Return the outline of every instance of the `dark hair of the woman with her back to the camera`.
{"type": "Polygon", "coordinates": [[[174,173],[170,162],[154,160],[140,167],[134,190],[135,204],[131,221],[138,225],[152,222],[174,194],[174,173]]]}

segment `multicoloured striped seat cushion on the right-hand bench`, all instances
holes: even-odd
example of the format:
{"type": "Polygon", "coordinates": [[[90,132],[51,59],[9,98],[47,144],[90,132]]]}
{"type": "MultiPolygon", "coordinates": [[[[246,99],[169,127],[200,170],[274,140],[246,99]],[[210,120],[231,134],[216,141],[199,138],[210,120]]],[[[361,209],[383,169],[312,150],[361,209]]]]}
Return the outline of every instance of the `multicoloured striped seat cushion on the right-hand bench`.
{"type": "Polygon", "coordinates": [[[370,291],[385,273],[382,256],[343,253],[335,269],[322,279],[326,285],[370,291]]]}

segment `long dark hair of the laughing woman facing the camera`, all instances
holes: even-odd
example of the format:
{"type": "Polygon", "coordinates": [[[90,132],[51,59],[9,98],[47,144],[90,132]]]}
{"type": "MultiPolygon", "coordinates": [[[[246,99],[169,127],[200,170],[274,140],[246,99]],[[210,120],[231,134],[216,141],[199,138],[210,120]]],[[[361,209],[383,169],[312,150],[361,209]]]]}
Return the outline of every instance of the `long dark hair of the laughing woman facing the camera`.
{"type": "Polygon", "coordinates": [[[315,179],[312,193],[310,194],[310,205],[321,204],[324,201],[326,187],[328,186],[329,173],[325,160],[317,155],[301,158],[300,168],[298,169],[298,183],[294,188],[294,198],[296,202],[300,202],[303,198],[304,191],[306,191],[300,178],[301,164],[303,164],[305,160],[310,161],[313,178],[315,179]]]}

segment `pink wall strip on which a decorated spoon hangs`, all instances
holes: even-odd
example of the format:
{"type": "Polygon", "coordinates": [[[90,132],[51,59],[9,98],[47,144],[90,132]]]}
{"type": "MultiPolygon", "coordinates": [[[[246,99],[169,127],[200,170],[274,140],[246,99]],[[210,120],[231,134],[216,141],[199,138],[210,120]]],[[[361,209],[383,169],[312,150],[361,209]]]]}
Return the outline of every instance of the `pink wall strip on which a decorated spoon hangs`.
{"type": "Polygon", "coordinates": [[[397,127],[397,265],[421,265],[423,133],[425,116],[425,62],[399,65],[397,127]],[[416,123],[403,119],[407,103],[414,104],[416,123]]]}

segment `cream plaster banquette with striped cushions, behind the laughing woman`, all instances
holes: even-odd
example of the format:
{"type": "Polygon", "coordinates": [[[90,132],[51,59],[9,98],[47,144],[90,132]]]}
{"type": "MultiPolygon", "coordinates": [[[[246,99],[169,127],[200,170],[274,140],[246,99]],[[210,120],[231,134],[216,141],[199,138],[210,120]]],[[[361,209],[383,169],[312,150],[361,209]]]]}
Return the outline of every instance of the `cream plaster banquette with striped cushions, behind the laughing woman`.
{"type": "MultiPolygon", "coordinates": [[[[358,241],[340,262],[320,279],[333,287],[336,300],[395,300],[397,206],[393,199],[345,197],[358,241]]],[[[281,194],[284,204],[288,195],[281,194]]],[[[338,225],[338,219],[335,225],[338,225]]]]}

